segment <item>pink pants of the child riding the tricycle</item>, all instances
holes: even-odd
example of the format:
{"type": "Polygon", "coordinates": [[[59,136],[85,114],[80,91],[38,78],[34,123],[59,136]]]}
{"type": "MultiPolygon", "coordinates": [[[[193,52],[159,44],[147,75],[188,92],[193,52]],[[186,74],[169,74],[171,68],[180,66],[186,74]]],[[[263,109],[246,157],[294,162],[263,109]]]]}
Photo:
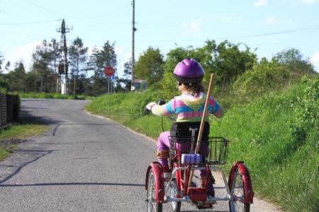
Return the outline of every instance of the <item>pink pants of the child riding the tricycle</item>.
{"type": "MultiPolygon", "coordinates": [[[[164,131],[161,134],[159,134],[158,137],[158,142],[157,142],[157,151],[169,151],[170,143],[169,143],[169,136],[170,132],[169,131],[164,131]]],[[[206,153],[206,146],[201,146],[201,153],[206,153]]],[[[158,162],[161,165],[168,165],[168,160],[167,159],[158,159],[158,162]]],[[[206,176],[206,171],[205,170],[200,170],[200,175],[201,177],[206,176]]]]}

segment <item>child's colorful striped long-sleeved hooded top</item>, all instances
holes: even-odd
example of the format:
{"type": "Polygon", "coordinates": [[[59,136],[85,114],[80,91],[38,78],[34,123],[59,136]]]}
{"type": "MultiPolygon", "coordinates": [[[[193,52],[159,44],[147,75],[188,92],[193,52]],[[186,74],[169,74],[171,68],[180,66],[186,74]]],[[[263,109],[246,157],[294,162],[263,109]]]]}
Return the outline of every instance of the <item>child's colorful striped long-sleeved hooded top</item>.
{"type": "MultiPolygon", "coordinates": [[[[206,94],[202,92],[196,95],[183,93],[164,105],[153,106],[152,113],[159,116],[177,114],[176,122],[201,122],[205,100],[206,94]]],[[[218,118],[223,117],[224,114],[223,108],[213,97],[209,100],[208,112],[218,118]]],[[[206,117],[206,121],[208,121],[208,117],[206,117]]]]}

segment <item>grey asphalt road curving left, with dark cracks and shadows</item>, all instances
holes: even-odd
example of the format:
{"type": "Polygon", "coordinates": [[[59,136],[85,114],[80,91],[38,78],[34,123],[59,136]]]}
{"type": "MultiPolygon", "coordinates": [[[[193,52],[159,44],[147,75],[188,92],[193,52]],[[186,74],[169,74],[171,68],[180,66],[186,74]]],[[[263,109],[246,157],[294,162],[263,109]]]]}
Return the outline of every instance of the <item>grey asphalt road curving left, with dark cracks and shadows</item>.
{"type": "MultiPolygon", "coordinates": [[[[87,114],[87,103],[22,100],[23,116],[37,117],[50,131],[0,163],[0,211],[146,211],[145,172],[156,160],[155,141],[87,114]]],[[[182,210],[196,207],[183,203],[182,210]]],[[[228,211],[227,204],[213,211],[228,211]]]]}

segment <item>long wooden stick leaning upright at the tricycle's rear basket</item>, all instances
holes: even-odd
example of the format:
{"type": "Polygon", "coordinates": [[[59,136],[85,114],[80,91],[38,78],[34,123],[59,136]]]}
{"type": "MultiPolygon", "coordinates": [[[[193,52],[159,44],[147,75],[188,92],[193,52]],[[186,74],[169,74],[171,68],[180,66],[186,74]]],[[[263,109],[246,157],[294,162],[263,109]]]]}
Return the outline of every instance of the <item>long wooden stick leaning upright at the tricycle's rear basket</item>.
{"type": "MultiPolygon", "coordinates": [[[[213,90],[213,81],[214,81],[214,74],[212,73],[211,79],[209,81],[207,95],[206,95],[203,116],[201,117],[201,126],[199,127],[198,138],[197,138],[197,143],[196,143],[196,148],[195,148],[195,154],[198,154],[199,146],[201,145],[201,137],[203,136],[203,129],[205,126],[205,117],[206,117],[207,110],[208,110],[209,100],[211,98],[211,92],[213,90]]],[[[193,175],[194,175],[194,170],[191,170],[191,175],[189,176],[189,187],[191,186],[191,181],[193,180],[193,175]]]]}

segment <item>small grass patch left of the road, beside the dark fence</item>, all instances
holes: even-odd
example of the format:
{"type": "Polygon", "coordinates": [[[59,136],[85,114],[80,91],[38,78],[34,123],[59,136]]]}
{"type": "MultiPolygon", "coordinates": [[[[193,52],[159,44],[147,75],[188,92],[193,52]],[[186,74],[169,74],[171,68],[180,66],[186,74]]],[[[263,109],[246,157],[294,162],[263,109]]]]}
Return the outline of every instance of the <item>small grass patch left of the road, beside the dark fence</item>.
{"type": "Polygon", "coordinates": [[[13,124],[9,129],[2,130],[0,133],[0,161],[10,155],[12,148],[16,145],[11,140],[27,139],[30,136],[41,134],[49,129],[49,126],[37,123],[13,124]]]}

